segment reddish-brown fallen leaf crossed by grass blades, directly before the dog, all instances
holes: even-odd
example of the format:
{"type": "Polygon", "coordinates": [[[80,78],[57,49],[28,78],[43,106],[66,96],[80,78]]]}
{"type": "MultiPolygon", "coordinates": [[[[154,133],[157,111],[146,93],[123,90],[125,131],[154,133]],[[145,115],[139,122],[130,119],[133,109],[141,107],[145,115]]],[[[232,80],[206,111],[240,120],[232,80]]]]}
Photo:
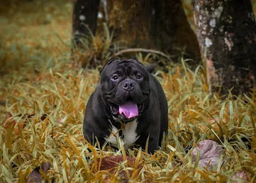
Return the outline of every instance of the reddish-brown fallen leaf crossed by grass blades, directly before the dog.
{"type": "MultiPolygon", "coordinates": [[[[127,158],[127,163],[126,163],[126,167],[131,167],[131,168],[135,168],[135,158],[133,157],[126,157],[127,158]]],[[[99,165],[101,160],[101,167],[99,168],[99,170],[109,170],[109,172],[111,174],[113,174],[115,172],[115,170],[118,168],[118,165],[124,161],[124,158],[122,155],[118,155],[118,156],[111,156],[111,157],[104,157],[104,158],[97,158],[97,165],[99,165]]],[[[93,162],[92,162],[93,164],[93,162]]],[[[92,165],[91,164],[91,165],[92,165]]],[[[131,175],[133,173],[133,171],[137,171],[136,175],[138,175],[140,173],[140,170],[142,169],[142,165],[138,165],[136,170],[128,170],[129,174],[131,175]]],[[[98,167],[97,167],[98,169],[98,167]]],[[[122,179],[122,182],[126,182],[128,181],[128,176],[125,170],[122,170],[121,172],[119,172],[119,175],[122,179]]],[[[109,177],[106,177],[105,182],[109,182],[109,177]]]]}

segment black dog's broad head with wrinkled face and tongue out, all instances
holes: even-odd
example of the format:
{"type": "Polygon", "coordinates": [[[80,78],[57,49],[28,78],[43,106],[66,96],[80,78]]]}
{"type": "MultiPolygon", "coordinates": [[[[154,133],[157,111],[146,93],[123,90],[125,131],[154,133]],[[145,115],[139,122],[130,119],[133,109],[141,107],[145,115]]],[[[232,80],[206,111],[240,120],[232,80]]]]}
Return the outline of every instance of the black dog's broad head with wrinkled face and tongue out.
{"type": "Polygon", "coordinates": [[[112,116],[124,122],[138,117],[150,94],[149,72],[136,59],[111,58],[101,70],[101,92],[112,116]]]}

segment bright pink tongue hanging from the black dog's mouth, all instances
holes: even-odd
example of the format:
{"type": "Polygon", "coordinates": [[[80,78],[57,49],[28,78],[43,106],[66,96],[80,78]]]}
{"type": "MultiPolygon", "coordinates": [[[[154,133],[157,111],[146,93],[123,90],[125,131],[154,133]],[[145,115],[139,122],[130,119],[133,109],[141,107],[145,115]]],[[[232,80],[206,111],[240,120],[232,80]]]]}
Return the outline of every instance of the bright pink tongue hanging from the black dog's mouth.
{"type": "Polygon", "coordinates": [[[121,106],[119,106],[119,113],[125,114],[125,117],[130,119],[134,116],[138,116],[138,106],[135,103],[125,103],[121,106]]]}

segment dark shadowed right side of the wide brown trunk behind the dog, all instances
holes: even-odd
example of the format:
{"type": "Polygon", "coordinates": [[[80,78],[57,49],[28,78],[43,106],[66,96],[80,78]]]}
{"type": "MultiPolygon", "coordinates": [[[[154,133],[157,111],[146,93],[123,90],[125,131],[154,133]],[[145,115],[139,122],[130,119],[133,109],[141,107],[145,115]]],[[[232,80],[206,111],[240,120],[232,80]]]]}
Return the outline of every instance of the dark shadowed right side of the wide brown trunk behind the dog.
{"type": "Polygon", "coordinates": [[[150,36],[159,50],[175,54],[185,50],[185,57],[198,62],[201,57],[196,34],[187,21],[181,0],[152,0],[150,36]],[[185,48],[185,49],[184,49],[185,48]]]}

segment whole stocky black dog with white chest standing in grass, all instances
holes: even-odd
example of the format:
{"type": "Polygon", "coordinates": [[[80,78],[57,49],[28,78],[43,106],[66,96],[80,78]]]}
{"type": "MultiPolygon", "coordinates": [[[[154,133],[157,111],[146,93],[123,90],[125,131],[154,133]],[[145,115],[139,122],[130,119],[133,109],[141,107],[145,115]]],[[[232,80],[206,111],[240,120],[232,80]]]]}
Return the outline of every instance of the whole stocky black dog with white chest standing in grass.
{"type": "Polygon", "coordinates": [[[101,70],[101,79],[86,106],[83,133],[86,140],[97,137],[125,148],[141,145],[157,150],[168,130],[168,108],[159,81],[135,59],[111,58],[101,70]],[[119,140],[118,140],[119,141],[119,140]]]}

